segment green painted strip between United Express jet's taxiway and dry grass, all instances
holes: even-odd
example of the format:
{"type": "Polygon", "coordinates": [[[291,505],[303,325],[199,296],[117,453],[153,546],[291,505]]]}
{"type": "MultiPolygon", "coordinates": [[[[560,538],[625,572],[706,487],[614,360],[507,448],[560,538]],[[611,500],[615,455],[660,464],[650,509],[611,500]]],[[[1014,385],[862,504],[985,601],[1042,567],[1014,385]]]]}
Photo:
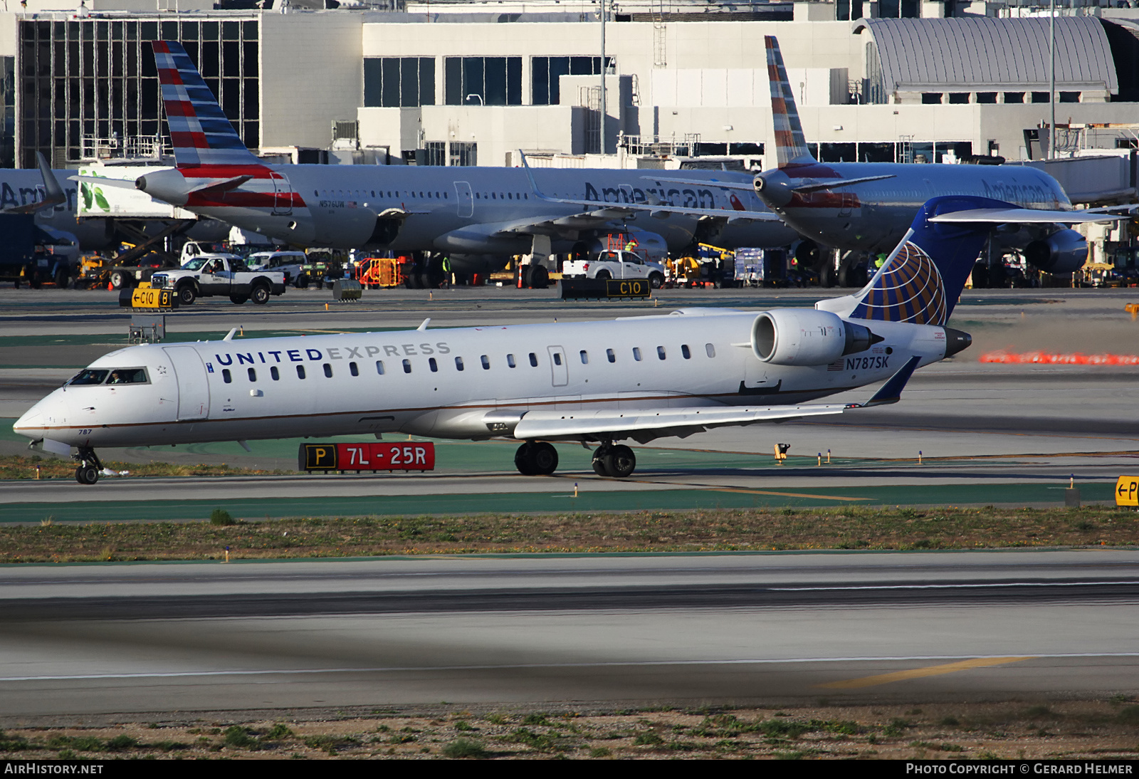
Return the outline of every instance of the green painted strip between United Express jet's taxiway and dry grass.
{"type": "MultiPolygon", "coordinates": [[[[588,478],[588,477],[584,477],[588,478]]],[[[652,509],[713,509],[764,507],[837,507],[837,506],[962,506],[989,503],[1060,503],[1064,486],[1052,484],[978,484],[880,487],[794,489],[801,497],[772,494],[784,492],[778,485],[768,490],[746,487],[629,490],[590,492],[589,481],[579,482],[573,497],[573,477],[564,481],[565,489],[556,492],[499,492],[425,495],[313,497],[313,498],[219,498],[212,500],[92,500],[60,503],[9,503],[0,511],[0,522],[117,522],[123,519],[170,520],[207,519],[214,508],[224,508],[236,517],[352,517],[429,514],[483,512],[579,512],[638,511],[652,509]],[[836,500],[837,497],[860,499],[836,500]]],[[[49,484],[43,485],[50,490],[49,484]]],[[[1113,484],[1080,485],[1085,501],[1112,500],[1113,484]]],[[[98,486],[91,487],[98,490],[98,486]]]]}

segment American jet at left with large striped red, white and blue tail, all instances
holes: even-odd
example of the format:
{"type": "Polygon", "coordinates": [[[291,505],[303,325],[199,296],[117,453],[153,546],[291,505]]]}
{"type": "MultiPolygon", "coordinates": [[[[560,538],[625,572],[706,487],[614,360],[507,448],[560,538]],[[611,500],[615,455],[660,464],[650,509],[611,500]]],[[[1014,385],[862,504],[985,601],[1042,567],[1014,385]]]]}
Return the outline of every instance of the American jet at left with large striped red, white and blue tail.
{"type": "MultiPolygon", "coordinates": [[[[653,254],[694,240],[785,246],[797,238],[738,174],[739,194],[707,171],[540,170],[535,198],[514,167],[267,165],[238,137],[197,67],[171,41],[154,43],[177,167],[139,177],[151,197],[303,246],[448,253],[462,272],[511,254],[600,248],[615,231],[653,254]]],[[[726,174],[720,173],[719,178],[726,174]]]]}

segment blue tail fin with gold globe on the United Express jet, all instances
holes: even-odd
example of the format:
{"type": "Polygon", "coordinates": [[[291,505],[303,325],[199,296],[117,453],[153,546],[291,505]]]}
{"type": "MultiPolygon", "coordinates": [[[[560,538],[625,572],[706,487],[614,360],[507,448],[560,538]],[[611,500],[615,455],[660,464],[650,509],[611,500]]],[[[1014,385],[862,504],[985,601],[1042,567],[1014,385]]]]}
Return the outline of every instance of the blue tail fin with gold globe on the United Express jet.
{"type": "MultiPolygon", "coordinates": [[[[1010,207],[988,197],[948,195],[926,200],[898,248],[869,284],[851,295],[846,315],[915,325],[944,325],[989,238],[992,224],[931,222],[969,208],[1010,207]]],[[[837,306],[827,306],[836,311],[837,306]]],[[[836,311],[837,312],[837,311],[836,311]]]]}

